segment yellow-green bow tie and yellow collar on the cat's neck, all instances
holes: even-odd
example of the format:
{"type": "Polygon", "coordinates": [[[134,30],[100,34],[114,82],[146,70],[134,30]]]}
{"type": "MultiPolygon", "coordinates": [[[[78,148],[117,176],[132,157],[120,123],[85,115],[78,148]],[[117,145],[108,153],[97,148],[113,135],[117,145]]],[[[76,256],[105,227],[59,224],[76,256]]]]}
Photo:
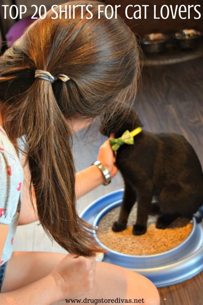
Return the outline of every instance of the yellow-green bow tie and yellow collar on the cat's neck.
{"type": "Polygon", "coordinates": [[[126,130],[120,138],[109,140],[111,148],[116,151],[123,144],[134,144],[134,136],[142,131],[141,127],[135,128],[133,131],[126,130]]]}

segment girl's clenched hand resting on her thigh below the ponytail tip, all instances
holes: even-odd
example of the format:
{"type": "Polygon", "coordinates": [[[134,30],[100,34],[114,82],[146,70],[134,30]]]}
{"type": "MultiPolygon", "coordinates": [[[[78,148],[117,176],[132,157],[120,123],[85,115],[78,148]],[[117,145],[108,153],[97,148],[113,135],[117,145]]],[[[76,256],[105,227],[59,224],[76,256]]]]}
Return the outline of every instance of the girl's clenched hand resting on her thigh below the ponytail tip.
{"type": "Polygon", "coordinates": [[[67,254],[50,273],[59,289],[59,300],[75,299],[93,288],[96,260],[67,254]]]}

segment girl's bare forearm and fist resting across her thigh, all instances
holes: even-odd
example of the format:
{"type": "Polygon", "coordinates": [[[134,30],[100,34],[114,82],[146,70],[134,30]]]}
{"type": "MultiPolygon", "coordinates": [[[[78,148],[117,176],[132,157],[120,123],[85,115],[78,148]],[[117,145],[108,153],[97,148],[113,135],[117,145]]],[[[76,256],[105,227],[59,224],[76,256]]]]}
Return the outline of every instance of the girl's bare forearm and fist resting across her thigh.
{"type": "Polygon", "coordinates": [[[65,299],[75,299],[92,289],[95,271],[94,258],[67,254],[44,278],[20,289],[0,293],[0,304],[49,305],[58,300],[65,303],[65,299]]]}

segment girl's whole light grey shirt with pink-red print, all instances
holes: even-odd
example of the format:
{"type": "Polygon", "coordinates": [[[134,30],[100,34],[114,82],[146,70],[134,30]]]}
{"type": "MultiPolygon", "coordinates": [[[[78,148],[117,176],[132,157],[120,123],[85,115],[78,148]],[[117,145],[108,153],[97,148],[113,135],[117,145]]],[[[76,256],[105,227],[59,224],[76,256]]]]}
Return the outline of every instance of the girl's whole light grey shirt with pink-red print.
{"type": "Polygon", "coordinates": [[[0,177],[0,223],[9,224],[9,232],[0,259],[0,265],[2,265],[12,255],[23,185],[23,167],[2,126],[0,126],[0,177]]]}

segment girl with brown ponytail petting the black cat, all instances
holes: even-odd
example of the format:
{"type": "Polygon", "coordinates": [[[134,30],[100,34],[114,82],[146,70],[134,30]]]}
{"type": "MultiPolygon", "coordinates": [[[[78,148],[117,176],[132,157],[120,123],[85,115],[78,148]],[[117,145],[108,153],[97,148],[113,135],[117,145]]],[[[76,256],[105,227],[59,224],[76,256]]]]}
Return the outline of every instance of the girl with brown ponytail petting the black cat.
{"type": "MultiPolygon", "coordinates": [[[[72,133],[104,114],[113,116],[121,102],[134,102],[139,74],[135,36],[121,18],[98,19],[100,2],[69,4],[93,5],[93,18],[86,19],[86,13],[81,19],[76,9],[75,19],[62,15],[53,20],[49,11],[0,58],[0,303],[120,297],[158,305],[158,292],[147,278],[96,262],[95,253],[103,250],[75,210],[76,199],[106,178],[95,165],[75,174],[72,133]],[[16,225],[36,220],[68,255],[12,253],[16,225]]],[[[117,168],[108,141],[97,160],[113,178],[117,168]]]]}

